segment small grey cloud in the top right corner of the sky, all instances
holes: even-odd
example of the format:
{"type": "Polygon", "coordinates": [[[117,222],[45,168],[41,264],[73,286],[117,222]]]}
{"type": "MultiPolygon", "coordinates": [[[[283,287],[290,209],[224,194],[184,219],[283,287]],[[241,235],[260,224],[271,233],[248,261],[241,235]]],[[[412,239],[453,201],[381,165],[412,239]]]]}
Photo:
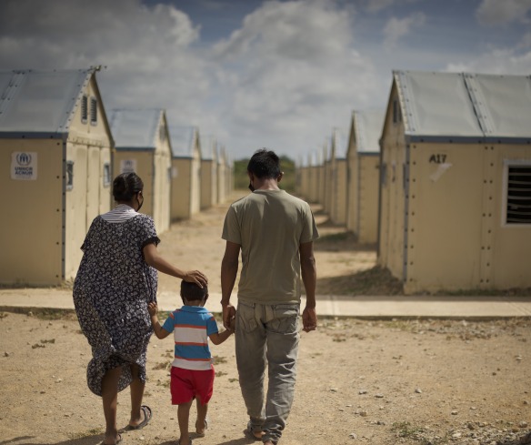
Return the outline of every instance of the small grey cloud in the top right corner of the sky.
{"type": "Polygon", "coordinates": [[[526,16],[529,10],[531,0],[483,0],[476,10],[476,18],[482,25],[530,23],[526,16]]]}

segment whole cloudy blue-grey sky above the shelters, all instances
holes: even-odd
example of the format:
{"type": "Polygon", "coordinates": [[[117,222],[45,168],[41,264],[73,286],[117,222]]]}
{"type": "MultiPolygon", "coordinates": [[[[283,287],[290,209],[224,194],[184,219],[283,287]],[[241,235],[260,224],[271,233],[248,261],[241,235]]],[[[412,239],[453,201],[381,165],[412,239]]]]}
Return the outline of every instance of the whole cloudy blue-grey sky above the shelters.
{"type": "Polygon", "coordinates": [[[0,0],[0,69],[89,66],[106,110],[306,162],[394,70],[531,75],[531,0],[0,0]]]}

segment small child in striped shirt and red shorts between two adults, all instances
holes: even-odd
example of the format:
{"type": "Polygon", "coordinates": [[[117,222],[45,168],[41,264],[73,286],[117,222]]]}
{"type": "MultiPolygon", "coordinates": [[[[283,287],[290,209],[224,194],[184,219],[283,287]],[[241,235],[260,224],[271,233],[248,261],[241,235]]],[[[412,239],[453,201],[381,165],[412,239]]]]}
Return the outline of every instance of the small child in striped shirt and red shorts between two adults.
{"type": "Polygon", "coordinates": [[[234,323],[231,324],[231,329],[218,332],[214,317],[203,308],[208,298],[206,287],[200,288],[195,283],[182,281],[181,298],[185,306],[174,310],[163,326],[156,316],[156,304],[151,302],[147,308],[158,339],[165,339],[174,333],[175,359],[172,363],[171,393],[172,404],[178,405],[177,419],[181,437],[177,440],[177,445],[191,445],[188,419],[192,401],[196,399],[197,405],[195,431],[199,437],[203,437],[207,428],[208,400],[214,389],[214,367],[208,339],[215,345],[223,343],[234,332],[234,323]]]}

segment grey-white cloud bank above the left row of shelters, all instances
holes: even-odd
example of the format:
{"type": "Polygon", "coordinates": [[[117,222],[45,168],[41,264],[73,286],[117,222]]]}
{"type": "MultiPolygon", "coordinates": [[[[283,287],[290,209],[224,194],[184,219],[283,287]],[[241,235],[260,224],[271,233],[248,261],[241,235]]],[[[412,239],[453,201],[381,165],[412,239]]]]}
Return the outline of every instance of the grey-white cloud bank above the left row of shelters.
{"type": "MultiPolygon", "coordinates": [[[[172,5],[140,0],[4,0],[0,3],[3,68],[64,69],[103,65],[107,108],[174,108],[187,124],[201,116],[210,87],[207,61],[190,46],[200,28],[172,5]]],[[[179,122],[181,123],[181,122],[179,122]]]]}

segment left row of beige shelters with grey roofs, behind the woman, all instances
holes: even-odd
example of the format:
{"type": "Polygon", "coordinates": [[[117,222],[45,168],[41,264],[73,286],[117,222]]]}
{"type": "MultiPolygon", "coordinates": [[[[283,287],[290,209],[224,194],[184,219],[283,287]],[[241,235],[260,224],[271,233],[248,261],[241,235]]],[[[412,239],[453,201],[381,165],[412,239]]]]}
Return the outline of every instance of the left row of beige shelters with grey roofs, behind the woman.
{"type": "Polygon", "coordinates": [[[210,143],[204,156],[198,129],[169,126],[163,109],[105,112],[96,71],[0,70],[1,284],[74,278],[120,173],[142,177],[143,212],[159,233],[231,190],[225,148],[210,143]]]}

